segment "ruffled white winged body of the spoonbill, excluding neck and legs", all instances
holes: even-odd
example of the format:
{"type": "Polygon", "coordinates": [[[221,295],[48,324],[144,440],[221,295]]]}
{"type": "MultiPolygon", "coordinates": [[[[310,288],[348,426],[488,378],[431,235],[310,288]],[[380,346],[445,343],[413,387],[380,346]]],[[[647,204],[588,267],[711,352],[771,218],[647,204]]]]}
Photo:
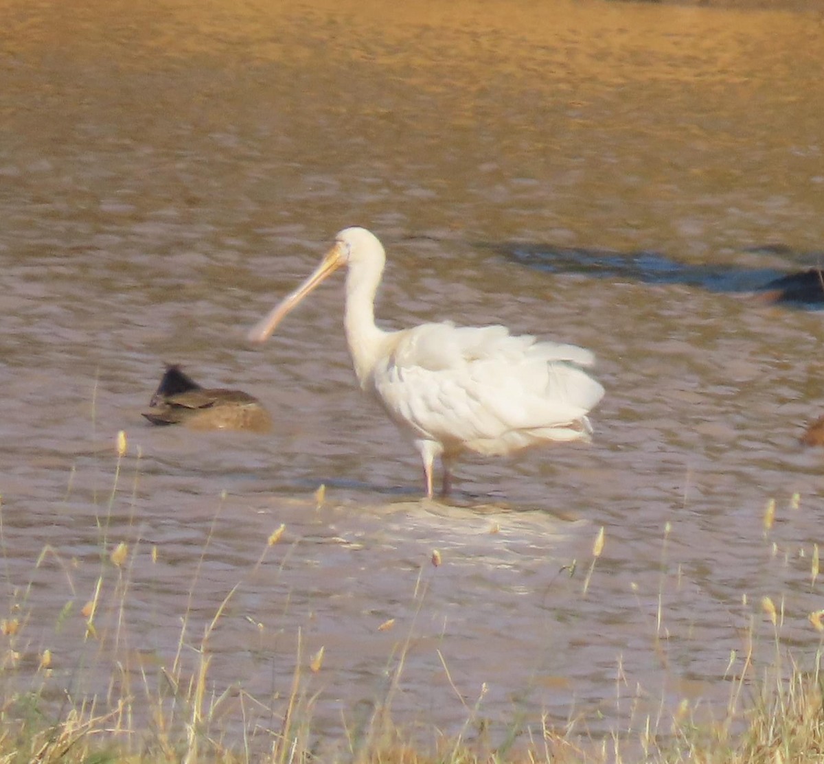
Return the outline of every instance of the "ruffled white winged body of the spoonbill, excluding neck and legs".
{"type": "Polygon", "coordinates": [[[503,326],[424,324],[396,335],[373,370],[391,416],[447,450],[507,454],[543,440],[588,435],[604,389],[574,345],[513,337],[503,326]]]}

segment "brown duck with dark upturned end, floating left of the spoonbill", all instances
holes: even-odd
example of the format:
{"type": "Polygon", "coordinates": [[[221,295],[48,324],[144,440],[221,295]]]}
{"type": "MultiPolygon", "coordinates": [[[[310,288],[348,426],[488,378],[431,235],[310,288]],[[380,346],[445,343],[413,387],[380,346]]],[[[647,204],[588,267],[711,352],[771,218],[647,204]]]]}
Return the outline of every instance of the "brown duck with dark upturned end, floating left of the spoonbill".
{"type": "Polygon", "coordinates": [[[272,427],[272,417],[257,398],[242,390],[201,387],[180,366],[166,367],[149,407],[154,410],[143,412],[143,416],[155,425],[252,432],[272,427]]]}

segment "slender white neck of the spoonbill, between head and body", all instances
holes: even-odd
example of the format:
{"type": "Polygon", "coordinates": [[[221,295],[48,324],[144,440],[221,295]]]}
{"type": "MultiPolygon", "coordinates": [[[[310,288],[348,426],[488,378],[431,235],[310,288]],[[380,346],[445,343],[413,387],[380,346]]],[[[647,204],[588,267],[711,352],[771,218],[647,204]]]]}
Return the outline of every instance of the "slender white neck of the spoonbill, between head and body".
{"type": "Polygon", "coordinates": [[[369,386],[381,348],[390,334],[375,324],[375,295],[382,273],[383,263],[358,262],[350,263],[346,274],[346,340],[363,389],[369,386]]]}

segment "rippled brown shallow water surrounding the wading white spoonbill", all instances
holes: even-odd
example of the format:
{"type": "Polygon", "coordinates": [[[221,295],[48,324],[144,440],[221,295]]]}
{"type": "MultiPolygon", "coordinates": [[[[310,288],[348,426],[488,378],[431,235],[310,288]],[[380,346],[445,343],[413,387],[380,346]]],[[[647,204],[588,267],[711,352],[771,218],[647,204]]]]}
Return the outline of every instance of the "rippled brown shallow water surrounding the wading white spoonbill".
{"type": "Polygon", "coordinates": [[[402,724],[456,732],[483,695],[490,729],[545,713],[596,738],[723,707],[751,631],[772,657],[763,596],[812,660],[824,475],[797,439],[824,406],[822,316],[750,290],[824,259],[820,19],[407,6],[2,2],[0,491],[24,619],[3,639],[7,666],[52,650],[55,697],[140,696],[181,630],[194,670],[216,613],[230,738],[248,696],[278,729],[298,634],[303,662],[325,649],[306,681],[330,733],[386,700],[404,650],[402,724]],[[248,347],[353,224],[389,253],[386,325],[592,348],[594,443],[470,460],[454,502],[420,501],[414,450],[354,384],[340,282],[248,347]],[[257,395],[274,433],[148,426],[165,362],[257,395]],[[128,565],[101,567],[120,541],[128,565]]]}

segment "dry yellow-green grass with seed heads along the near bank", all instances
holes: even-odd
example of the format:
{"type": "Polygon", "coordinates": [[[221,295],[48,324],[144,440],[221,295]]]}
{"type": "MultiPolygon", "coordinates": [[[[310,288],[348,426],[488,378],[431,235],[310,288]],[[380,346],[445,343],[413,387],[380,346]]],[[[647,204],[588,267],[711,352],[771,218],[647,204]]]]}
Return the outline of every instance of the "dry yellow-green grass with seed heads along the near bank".
{"type": "MultiPolygon", "coordinates": [[[[229,590],[199,642],[192,644],[188,624],[194,594],[197,590],[200,565],[193,574],[188,601],[182,618],[180,641],[174,658],[138,673],[141,687],[134,687],[129,678],[126,656],[118,656],[126,640],[122,631],[129,592],[130,572],[138,554],[156,559],[157,551],[141,540],[131,543],[110,539],[112,510],[121,491],[121,468],[127,453],[125,436],[117,440],[115,478],[105,506],[98,515],[101,552],[100,574],[95,593],[82,608],[82,613],[63,609],[56,617],[56,627],[68,618],[82,615],[84,642],[108,642],[115,646],[111,661],[109,692],[105,697],[54,696],[49,679],[54,671],[49,649],[35,650],[26,638],[29,624],[30,587],[7,580],[8,616],[0,622],[3,655],[0,664],[0,764],[12,762],[363,762],[363,764],[476,764],[476,762],[705,762],[705,764],[789,764],[789,762],[824,762],[824,678],[820,673],[821,642],[817,650],[793,655],[781,641],[784,620],[783,607],[772,599],[761,601],[762,615],[771,623],[773,659],[756,665],[752,645],[756,641],[755,623],[751,623],[747,655],[737,675],[725,677],[729,685],[725,708],[707,709],[700,703],[682,701],[673,712],[663,703],[657,715],[646,717],[645,724],[630,724],[628,729],[615,729],[611,736],[592,739],[583,730],[586,719],[570,710],[567,724],[550,724],[544,719],[539,725],[513,722],[509,734],[491,741],[484,733],[478,704],[467,706],[466,724],[451,737],[437,729],[422,738],[420,730],[405,730],[392,719],[392,698],[402,687],[405,658],[414,631],[401,638],[396,655],[391,656],[391,679],[386,696],[368,720],[347,727],[339,740],[329,740],[314,729],[313,710],[317,700],[313,678],[323,670],[323,650],[303,655],[298,634],[298,649],[291,687],[279,700],[278,707],[269,707],[249,696],[242,698],[244,721],[248,724],[238,732],[221,729],[221,706],[229,689],[217,693],[209,689],[211,660],[209,637],[220,622],[224,609],[231,602],[236,587],[229,590]],[[105,614],[105,617],[104,617],[105,614]],[[105,626],[101,627],[101,622],[105,626]],[[193,649],[194,648],[194,649],[193,649]],[[194,659],[186,659],[186,655],[194,659]],[[51,689],[49,689],[51,687],[51,689]],[[267,720],[261,724],[260,720],[267,720]]],[[[137,486],[140,454],[134,470],[137,486]]],[[[323,501],[323,489],[316,496],[323,501]]],[[[0,519],[5,508],[0,508],[0,519]]],[[[767,504],[764,515],[765,543],[775,519],[775,502],[767,504]]],[[[2,525],[0,525],[2,530],[2,525]]],[[[260,557],[250,566],[258,568],[278,545],[283,525],[275,528],[260,557]]],[[[667,525],[664,543],[671,529],[667,525]]],[[[211,538],[211,537],[210,537],[211,538]]],[[[569,575],[583,580],[586,594],[601,556],[606,534],[597,533],[592,558],[584,566],[573,566],[569,575]],[[579,571],[576,574],[575,568],[579,571]]],[[[774,552],[775,552],[775,545],[774,552]]],[[[2,552],[6,554],[5,538],[2,552]]],[[[208,553],[208,542],[201,552],[200,563],[208,553]]],[[[818,549],[811,554],[811,585],[818,576],[818,549]]],[[[60,557],[53,547],[45,547],[36,562],[56,562],[71,584],[71,561],[60,557]]],[[[440,564],[440,555],[433,552],[433,565],[440,564]]],[[[7,577],[9,572],[7,568],[7,577]]],[[[420,608],[426,597],[426,586],[420,585],[415,598],[420,608]]],[[[660,607],[660,606],[659,606],[660,607]]],[[[824,611],[810,613],[811,627],[819,632],[824,611]]],[[[660,622],[661,613],[658,613],[660,622]]],[[[412,627],[414,630],[414,625],[412,627]]],[[[125,651],[125,649],[124,649],[125,651]]],[[[730,661],[733,665],[733,659],[730,661]]],[[[446,666],[444,667],[446,668],[446,666]]],[[[76,673],[82,672],[78,665],[76,673]]],[[[447,669],[448,673],[448,669],[447,669]]],[[[71,684],[71,682],[67,682],[71,684]]]]}

